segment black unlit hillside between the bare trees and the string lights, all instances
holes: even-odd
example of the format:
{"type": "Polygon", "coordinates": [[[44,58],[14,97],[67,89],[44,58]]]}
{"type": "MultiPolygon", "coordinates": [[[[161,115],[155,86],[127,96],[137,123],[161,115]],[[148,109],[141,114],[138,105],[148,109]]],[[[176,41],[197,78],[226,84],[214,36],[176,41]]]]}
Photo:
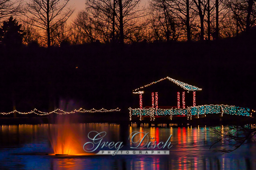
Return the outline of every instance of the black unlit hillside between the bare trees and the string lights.
{"type": "MultiPolygon", "coordinates": [[[[73,109],[119,107],[128,114],[129,107],[139,107],[132,90],[166,76],[202,88],[197,105],[255,110],[255,38],[251,33],[213,42],[2,47],[0,112],[52,111],[64,101],[73,102],[73,109]]],[[[159,106],[176,99],[166,96],[159,94],[159,106]]]]}

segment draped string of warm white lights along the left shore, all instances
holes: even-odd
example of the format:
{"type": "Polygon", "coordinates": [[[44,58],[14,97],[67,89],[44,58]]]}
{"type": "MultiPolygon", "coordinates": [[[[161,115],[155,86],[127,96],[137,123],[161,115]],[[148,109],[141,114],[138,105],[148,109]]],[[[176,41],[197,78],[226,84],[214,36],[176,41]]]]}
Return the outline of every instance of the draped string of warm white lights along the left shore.
{"type": "Polygon", "coordinates": [[[56,110],[53,110],[51,112],[43,112],[43,111],[39,111],[37,109],[34,109],[34,110],[31,110],[29,112],[20,112],[20,111],[17,111],[17,110],[13,110],[13,111],[10,111],[10,112],[2,112],[0,114],[2,115],[9,115],[11,113],[19,113],[19,114],[31,114],[31,113],[35,113],[37,115],[40,115],[40,116],[43,116],[43,115],[49,115],[51,113],[57,113],[57,114],[71,114],[71,113],[75,113],[75,112],[81,112],[81,113],[85,113],[85,112],[90,112],[90,113],[95,113],[95,112],[110,112],[110,111],[120,111],[119,108],[117,109],[110,109],[110,110],[106,110],[104,108],[100,109],[100,110],[96,110],[96,109],[91,109],[91,110],[85,110],[85,109],[82,109],[80,108],[79,110],[73,110],[73,111],[64,111],[64,110],[61,110],[61,109],[56,109],[56,110]]]}

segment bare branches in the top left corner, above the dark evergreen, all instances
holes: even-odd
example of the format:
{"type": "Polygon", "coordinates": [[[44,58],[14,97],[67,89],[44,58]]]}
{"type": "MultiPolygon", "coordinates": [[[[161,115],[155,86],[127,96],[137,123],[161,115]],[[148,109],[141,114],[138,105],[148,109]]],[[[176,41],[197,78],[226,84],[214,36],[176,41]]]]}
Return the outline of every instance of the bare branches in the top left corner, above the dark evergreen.
{"type": "Polygon", "coordinates": [[[0,21],[21,12],[20,1],[0,0],[0,21]]]}

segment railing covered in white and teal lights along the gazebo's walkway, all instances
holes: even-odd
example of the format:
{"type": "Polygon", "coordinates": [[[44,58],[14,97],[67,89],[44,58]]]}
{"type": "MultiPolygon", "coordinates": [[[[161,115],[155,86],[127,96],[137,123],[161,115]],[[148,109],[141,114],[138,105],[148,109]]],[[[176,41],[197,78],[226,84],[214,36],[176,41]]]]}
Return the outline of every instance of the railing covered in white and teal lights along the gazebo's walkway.
{"type": "Polygon", "coordinates": [[[178,108],[172,108],[172,109],[156,109],[156,108],[142,108],[142,109],[132,109],[129,108],[129,116],[130,120],[132,119],[132,116],[139,116],[140,120],[142,116],[150,116],[151,120],[155,120],[155,116],[170,116],[170,119],[173,118],[175,115],[180,116],[187,116],[188,119],[192,119],[192,116],[197,116],[199,118],[199,115],[206,114],[231,114],[231,115],[239,115],[239,116],[252,116],[252,112],[255,112],[252,110],[250,113],[250,109],[248,108],[242,108],[237,106],[229,106],[229,105],[202,105],[202,106],[190,106],[186,109],[178,109],[178,108]]]}

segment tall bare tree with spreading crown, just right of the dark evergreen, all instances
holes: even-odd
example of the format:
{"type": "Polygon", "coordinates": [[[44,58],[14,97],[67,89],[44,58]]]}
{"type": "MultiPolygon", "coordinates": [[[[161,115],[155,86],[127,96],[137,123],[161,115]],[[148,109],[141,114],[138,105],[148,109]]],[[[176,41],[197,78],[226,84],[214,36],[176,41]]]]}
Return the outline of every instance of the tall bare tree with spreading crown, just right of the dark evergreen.
{"type": "MultiPolygon", "coordinates": [[[[47,46],[51,46],[52,33],[62,26],[73,14],[73,8],[67,7],[70,0],[30,0],[24,14],[30,24],[46,32],[47,46]]],[[[24,21],[26,22],[26,21],[24,21]]],[[[29,23],[28,23],[29,24],[29,23]]]]}

